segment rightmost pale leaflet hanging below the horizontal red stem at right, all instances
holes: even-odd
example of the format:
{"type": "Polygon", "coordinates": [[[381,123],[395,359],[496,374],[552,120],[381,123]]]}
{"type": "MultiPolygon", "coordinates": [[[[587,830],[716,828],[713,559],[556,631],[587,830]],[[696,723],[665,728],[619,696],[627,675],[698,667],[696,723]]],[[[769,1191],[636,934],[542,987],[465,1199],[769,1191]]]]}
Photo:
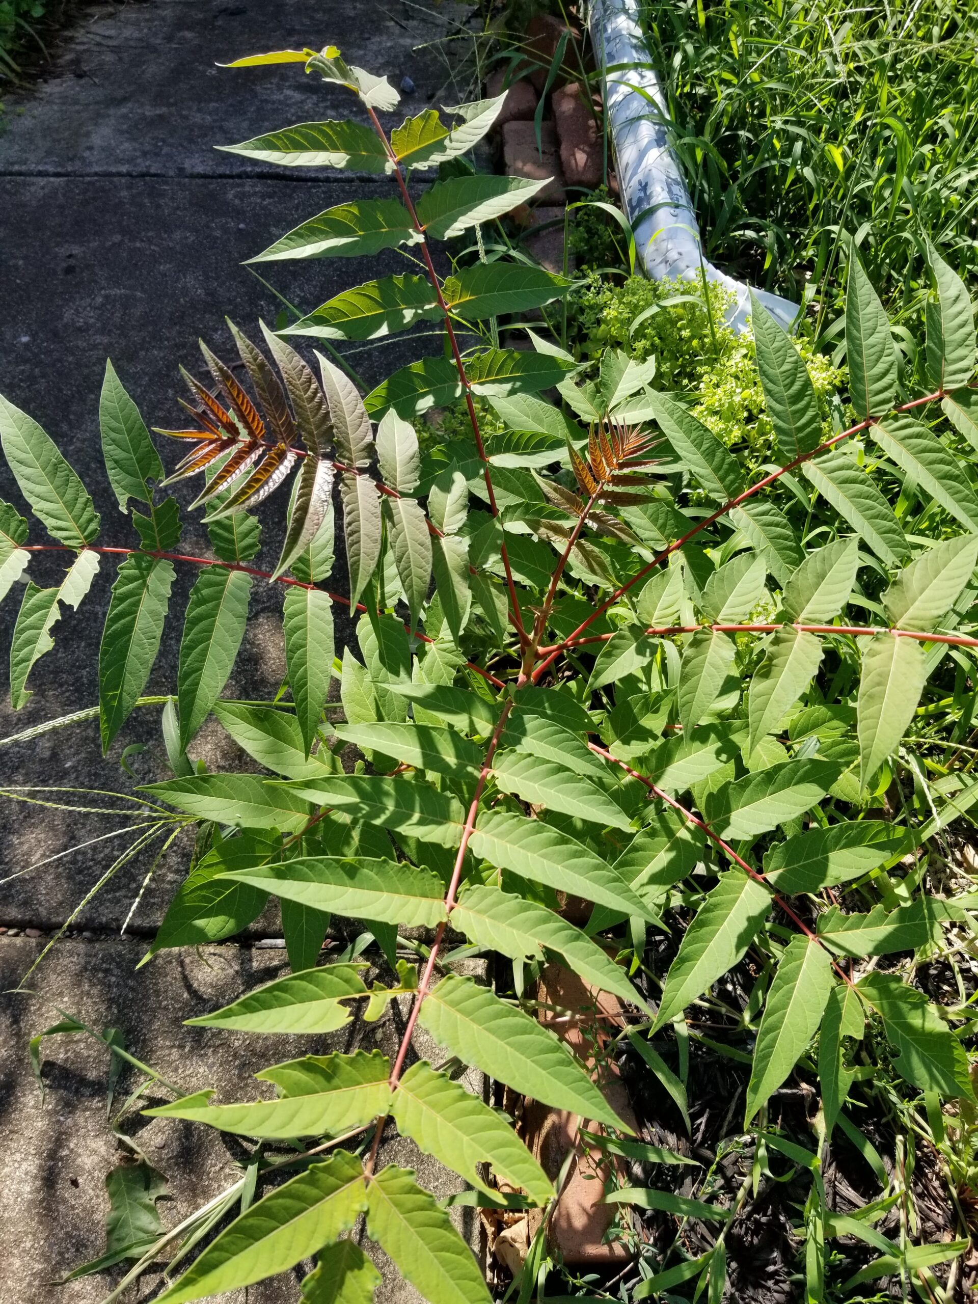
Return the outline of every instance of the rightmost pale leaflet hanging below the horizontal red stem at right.
{"type": "Polygon", "coordinates": [[[925,652],[914,639],[888,634],[866,639],[857,700],[859,782],[863,788],[898,746],[926,681],[925,652]]]}

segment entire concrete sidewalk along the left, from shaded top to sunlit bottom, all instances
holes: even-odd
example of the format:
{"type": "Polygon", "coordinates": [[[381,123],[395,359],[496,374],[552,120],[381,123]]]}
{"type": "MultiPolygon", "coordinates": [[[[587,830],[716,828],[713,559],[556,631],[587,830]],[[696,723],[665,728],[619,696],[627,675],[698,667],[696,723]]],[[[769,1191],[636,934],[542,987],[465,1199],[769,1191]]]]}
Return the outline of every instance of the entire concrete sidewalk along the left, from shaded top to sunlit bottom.
{"type": "MultiPolygon", "coordinates": [[[[475,86],[466,82],[462,57],[471,47],[464,30],[469,12],[456,0],[442,0],[438,7],[407,0],[133,0],[89,7],[40,85],[29,94],[5,96],[0,115],[0,394],[40,421],[86,482],[102,512],[99,544],[137,541],[119,512],[102,463],[98,395],[106,357],[112,357],[147,425],[175,424],[177,366],[183,363],[200,372],[198,336],[219,356],[230,356],[226,316],[250,335],[257,334],[259,317],[275,321],[279,301],[241,266],[243,259],[334,203],[364,192],[393,193],[383,179],[256,167],[216,151],[215,145],[293,123],[356,116],[357,106],[343,91],[305,77],[301,67],[226,70],[215,65],[266,50],[318,48],[333,42],[349,63],[387,74],[395,86],[409,78],[415,89],[404,96],[400,112],[391,115],[396,123],[430,104],[472,96],[475,86]]],[[[402,270],[402,261],[390,254],[259,270],[279,293],[308,312],[349,286],[402,270]]],[[[351,355],[351,363],[364,383],[373,386],[439,347],[433,338],[395,338],[351,355]]],[[[173,463],[172,449],[160,447],[160,452],[173,463]]],[[[186,503],[193,492],[179,497],[186,503]]],[[[0,498],[23,511],[5,466],[0,466],[0,498]]],[[[267,569],[274,562],[283,516],[284,499],[273,498],[263,511],[257,566],[267,569]]],[[[31,541],[42,541],[39,526],[33,524],[31,532],[31,541]]],[[[181,548],[206,546],[200,514],[184,514],[181,548]]],[[[39,554],[31,576],[38,584],[52,584],[63,569],[56,554],[39,554]]],[[[115,562],[103,558],[81,610],[63,615],[55,629],[55,651],[31,675],[35,696],[16,715],[4,682],[0,739],[96,703],[98,648],[115,570],[115,562]]],[[[177,576],[149,692],[175,690],[192,579],[177,576]]],[[[333,587],[344,584],[339,562],[333,587]]],[[[14,591],[0,608],[4,662],[18,602],[14,591]]],[[[280,609],[278,585],[256,580],[249,629],[228,691],[259,698],[278,690],[284,670],[280,609]]],[[[349,621],[338,613],[338,652],[351,635],[349,621]]],[[[213,722],[192,754],[213,765],[250,768],[213,722]]],[[[96,721],[35,742],[0,746],[0,784],[8,786],[78,785],[130,793],[137,782],[160,777],[166,767],[156,708],[137,712],[104,759],[96,721]],[[128,758],[136,777],[119,764],[123,748],[132,743],[145,745],[128,758]]],[[[100,815],[0,803],[0,878],[20,875],[0,884],[0,926],[21,934],[0,935],[0,988],[13,987],[43,945],[43,938],[23,936],[23,931],[51,932],[63,925],[117,850],[111,850],[113,842],[99,844],[35,872],[21,871],[116,823],[100,815]]],[[[259,921],[248,944],[186,957],[170,953],[133,973],[145,939],[185,874],[188,854],[189,846],[177,842],[158,868],[133,915],[134,938],[120,940],[117,934],[147,870],[138,859],[85,908],[74,936],[31,977],[29,986],[38,996],[0,996],[0,1037],[7,1050],[0,1069],[0,1129],[12,1146],[0,1254],[3,1304],[47,1304],[55,1297],[94,1304],[119,1275],[63,1288],[47,1284],[100,1252],[104,1175],[117,1158],[106,1120],[104,1054],[98,1047],[81,1038],[52,1042],[44,1051],[52,1064],[40,1103],[27,1041],[55,1021],[53,1005],[99,1026],[125,1026],[136,1054],[181,1082],[203,1073],[207,1082],[201,1078],[196,1085],[216,1085],[224,1099],[248,1098],[250,1073],[265,1064],[322,1050],[308,1042],[273,1047],[270,1038],[261,1045],[240,1041],[233,1048],[228,1042],[226,1052],[216,1041],[205,1047],[181,1028],[183,1018],[232,999],[271,977],[270,966],[283,964],[280,951],[253,945],[262,931],[279,931],[274,914],[259,921]],[[201,1050],[205,1060],[196,1065],[201,1050]]],[[[399,1017],[393,1012],[390,1026],[378,1028],[377,1035],[393,1037],[399,1017]]],[[[140,1144],[150,1131],[140,1133],[140,1144]]],[[[413,1148],[398,1145],[399,1162],[425,1162],[417,1151],[407,1153],[413,1148]]],[[[160,1205],[167,1226],[236,1174],[228,1150],[215,1137],[206,1138],[202,1128],[175,1128],[170,1140],[159,1149],[154,1142],[147,1154],[171,1180],[175,1198],[160,1205]]],[[[452,1179],[436,1168],[426,1162],[425,1180],[449,1189],[452,1179]]],[[[299,1291],[293,1281],[284,1281],[246,1295],[249,1304],[278,1304],[297,1299],[299,1291]]],[[[381,1296],[416,1297],[390,1277],[381,1296]]],[[[237,1304],[239,1296],[233,1299],[237,1304]]]]}

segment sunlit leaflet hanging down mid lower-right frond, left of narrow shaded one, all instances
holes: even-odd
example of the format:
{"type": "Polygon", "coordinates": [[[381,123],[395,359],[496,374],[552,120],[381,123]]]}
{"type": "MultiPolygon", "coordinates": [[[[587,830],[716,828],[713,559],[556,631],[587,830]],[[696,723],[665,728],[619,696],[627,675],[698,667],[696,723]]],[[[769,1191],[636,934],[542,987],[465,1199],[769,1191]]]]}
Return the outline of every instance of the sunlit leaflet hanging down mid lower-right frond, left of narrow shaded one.
{"type": "Polygon", "coordinates": [[[745,1128],[808,1048],[832,986],[832,965],[818,941],[792,938],[771,983],[758,1030],[745,1128]]]}

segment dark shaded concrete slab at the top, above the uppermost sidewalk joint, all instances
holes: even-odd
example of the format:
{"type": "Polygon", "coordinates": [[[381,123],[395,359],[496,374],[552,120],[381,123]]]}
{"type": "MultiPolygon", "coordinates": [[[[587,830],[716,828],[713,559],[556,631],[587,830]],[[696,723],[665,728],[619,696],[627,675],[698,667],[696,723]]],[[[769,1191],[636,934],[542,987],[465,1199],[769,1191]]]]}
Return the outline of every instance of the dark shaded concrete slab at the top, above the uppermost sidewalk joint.
{"type": "MultiPolygon", "coordinates": [[[[406,77],[396,125],[434,104],[476,98],[466,56],[471,5],[327,4],[313,0],[151,0],[86,10],[52,76],[10,96],[0,172],[74,176],[245,176],[280,173],[215,145],[293,123],[356,117],[352,95],[306,77],[301,65],[227,70],[269,50],[340,47],[351,64],[406,77]],[[443,38],[449,44],[438,44],[443,38]],[[462,56],[460,56],[462,52],[462,56]],[[22,115],[18,110],[22,108],[22,115]]],[[[8,96],[4,96],[8,99],[8,96]]],[[[301,175],[306,170],[296,170],[301,175]]]]}

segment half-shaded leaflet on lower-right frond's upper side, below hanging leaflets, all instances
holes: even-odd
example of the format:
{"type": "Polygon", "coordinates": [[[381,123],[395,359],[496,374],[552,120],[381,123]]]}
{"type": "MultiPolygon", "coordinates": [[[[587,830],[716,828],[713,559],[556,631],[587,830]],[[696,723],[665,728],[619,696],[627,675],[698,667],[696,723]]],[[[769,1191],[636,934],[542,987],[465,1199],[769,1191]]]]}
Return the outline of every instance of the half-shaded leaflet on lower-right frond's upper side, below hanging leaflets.
{"type": "Polygon", "coordinates": [[[840,773],[828,760],[786,760],[709,793],[703,814],[721,837],[754,837],[811,810],[840,773]]]}

